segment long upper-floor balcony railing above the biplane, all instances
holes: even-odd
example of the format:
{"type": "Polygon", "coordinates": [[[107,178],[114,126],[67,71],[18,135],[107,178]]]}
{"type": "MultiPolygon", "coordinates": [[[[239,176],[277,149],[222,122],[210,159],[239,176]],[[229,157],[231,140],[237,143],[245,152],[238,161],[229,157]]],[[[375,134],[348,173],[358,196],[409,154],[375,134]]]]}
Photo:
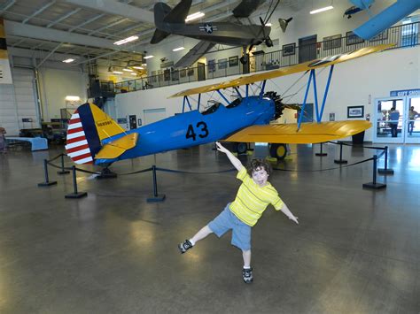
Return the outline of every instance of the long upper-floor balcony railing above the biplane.
{"type": "Polygon", "coordinates": [[[324,42],[295,47],[287,45],[284,50],[277,50],[269,53],[261,53],[250,57],[249,72],[244,71],[239,58],[229,57],[209,59],[207,65],[189,67],[184,69],[168,68],[163,73],[148,76],[142,79],[126,80],[115,83],[115,93],[127,93],[136,90],[160,88],[171,85],[183,84],[198,80],[211,80],[229,75],[242,73],[255,73],[267,71],[279,67],[297,65],[315,58],[322,58],[340,53],[346,53],[362,47],[375,46],[381,43],[395,43],[396,48],[412,47],[420,44],[420,22],[404,24],[398,27],[390,27],[381,34],[378,34],[369,41],[365,41],[353,32],[347,32],[345,37],[338,36],[324,42]]]}

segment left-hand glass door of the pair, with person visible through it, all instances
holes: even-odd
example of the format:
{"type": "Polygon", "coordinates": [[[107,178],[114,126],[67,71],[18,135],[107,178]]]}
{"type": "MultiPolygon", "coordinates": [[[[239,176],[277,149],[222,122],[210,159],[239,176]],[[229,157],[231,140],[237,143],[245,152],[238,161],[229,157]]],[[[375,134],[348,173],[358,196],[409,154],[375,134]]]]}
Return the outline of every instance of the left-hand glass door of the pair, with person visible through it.
{"type": "Polygon", "coordinates": [[[407,127],[402,127],[406,108],[405,98],[385,97],[375,99],[373,142],[404,142],[407,130],[407,127]]]}

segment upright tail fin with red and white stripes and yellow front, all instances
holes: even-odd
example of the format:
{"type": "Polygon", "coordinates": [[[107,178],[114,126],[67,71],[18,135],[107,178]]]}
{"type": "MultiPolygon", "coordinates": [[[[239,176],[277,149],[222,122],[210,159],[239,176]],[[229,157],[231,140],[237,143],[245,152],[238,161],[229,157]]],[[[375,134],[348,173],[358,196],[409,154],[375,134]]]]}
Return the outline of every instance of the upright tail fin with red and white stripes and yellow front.
{"type": "Polygon", "coordinates": [[[67,127],[66,152],[75,164],[91,164],[102,149],[102,140],[124,133],[104,111],[84,103],[74,111],[67,127]]]}

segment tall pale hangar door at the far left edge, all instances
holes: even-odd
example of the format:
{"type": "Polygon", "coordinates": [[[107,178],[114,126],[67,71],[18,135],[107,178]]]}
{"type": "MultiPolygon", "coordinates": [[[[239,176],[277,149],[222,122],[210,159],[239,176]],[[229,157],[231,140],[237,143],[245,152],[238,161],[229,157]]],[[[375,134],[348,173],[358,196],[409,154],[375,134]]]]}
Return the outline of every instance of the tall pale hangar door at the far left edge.
{"type": "Polygon", "coordinates": [[[37,128],[40,124],[34,71],[13,67],[12,78],[13,84],[0,84],[0,126],[7,135],[17,136],[20,129],[37,128]]]}

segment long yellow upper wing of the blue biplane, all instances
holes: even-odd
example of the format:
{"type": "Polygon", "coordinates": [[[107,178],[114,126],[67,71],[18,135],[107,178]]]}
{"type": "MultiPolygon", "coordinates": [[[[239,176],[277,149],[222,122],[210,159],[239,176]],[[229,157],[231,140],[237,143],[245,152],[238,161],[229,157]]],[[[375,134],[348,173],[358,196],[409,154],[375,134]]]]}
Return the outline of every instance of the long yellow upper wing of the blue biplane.
{"type": "Polygon", "coordinates": [[[390,43],[390,44],[382,44],[382,45],[377,45],[377,46],[372,46],[372,47],[365,47],[359,50],[354,50],[352,52],[347,52],[347,53],[336,55],[336,56],[324,57],[322,59],[315,59],[312,61],[307,61],[299,65],[285,66],[280,69],[268,71],[265,73],[258,73],[258,74],[253,74],[249,76],[241,76],[235,80],[227,80],[216,85],[206,85],[199,88],[186,89],[186,90],[183,90],[182,92],[174,94],[173,96],[169,96],[169,98],[207,93],[207,92],[211,92],[217,89],[232,88],[236,86],[251,84],[256,81],[269,80],[269,79],[274,79],[279,76],[305,72],[305,71],[316,69],[323,66],[335,65],[341,62],[354,59],[355,57],[362,57],[362,56],[369,55],[370,53],[389,49],[393,47],[394,45],[395,44],[390,43]]]}

